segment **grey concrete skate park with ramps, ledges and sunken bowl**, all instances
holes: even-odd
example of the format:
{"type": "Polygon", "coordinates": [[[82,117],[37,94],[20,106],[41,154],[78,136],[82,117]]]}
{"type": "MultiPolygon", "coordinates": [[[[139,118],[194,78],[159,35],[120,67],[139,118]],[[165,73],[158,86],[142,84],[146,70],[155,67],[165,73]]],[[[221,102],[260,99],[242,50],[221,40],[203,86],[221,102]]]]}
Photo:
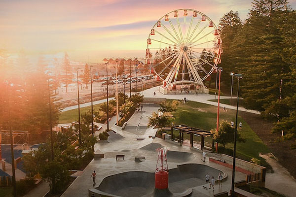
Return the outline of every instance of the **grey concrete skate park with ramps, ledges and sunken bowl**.
{"type": "MultiPolygon", "coordinates": [[[[157,130],[145,125],[150,114],[157,111],[158,105],[148,103],[143,106],[143,111],[136,112],[124,130],[114,124],[108,140],[95,145],[95,159],[74,180],[64,195],[153,196],[154,173],[158,160],[156,150],[159,148],[166,151],[168,164],[168,190],[165,196],[212,197],[229,192],[231,168],[210,161],[211,157],[221,156],[206,150],[207,157],[203,162],[201,150],[155,137],[157,130]],[[137,130],[140,121],[141,125],[137,130]],[[97,173],[94,185],[90,178],[93,170],[97,173]],[[210,189],[205,181],[207,173],[216,180],[218,174],[222,173],[222,187],[218,187],[216,181],[215,191],[210,189]]],[[[245,173],[236,171],[236,182],[245,179],[245,173]]]]}

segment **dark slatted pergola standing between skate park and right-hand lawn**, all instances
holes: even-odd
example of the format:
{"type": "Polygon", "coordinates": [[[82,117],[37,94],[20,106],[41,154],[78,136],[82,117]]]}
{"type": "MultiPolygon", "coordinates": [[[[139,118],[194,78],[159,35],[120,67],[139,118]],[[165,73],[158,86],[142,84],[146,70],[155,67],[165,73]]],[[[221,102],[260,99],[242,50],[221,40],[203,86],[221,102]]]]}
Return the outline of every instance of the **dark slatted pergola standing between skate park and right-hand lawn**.
{"type": "MultiPolygon", "coordinates": [[[[187,134],[190,134],[190,145],[191,147],[193,147],[193,135],[196,136],[201,136],[201,145],[200,145],[200,149],[203,150],[205,147],[205,137],[207,136],[212,136],[212,133],[210,131],[205,131],[202,129],[197,129],[194,127],[189,127],[186,125],[178,125],[178,126],[174,126],[175,130],[179,130],[180,136],[179,136],[179,142],[180,144],[182,144],[183,140],[184,140],[184,132],[186,132],[187,134]]],[[[213,143],[212,143],[212,148],[213,148],[213,143]]]]}

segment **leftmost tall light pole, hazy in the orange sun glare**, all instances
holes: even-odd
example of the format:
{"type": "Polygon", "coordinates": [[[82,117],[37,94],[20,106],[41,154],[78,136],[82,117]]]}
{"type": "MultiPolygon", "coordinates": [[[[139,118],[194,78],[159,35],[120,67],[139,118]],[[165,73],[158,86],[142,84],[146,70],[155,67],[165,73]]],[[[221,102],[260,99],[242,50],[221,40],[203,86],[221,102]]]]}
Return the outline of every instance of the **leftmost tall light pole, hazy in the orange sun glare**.
{"type": "Polygon", "coordinates": [[[13,197],[16,197],[16,181],[15,181],[15,164],[14,164],[14,150],[13,150],[13,138],[12,138],[12,127],[11,127],[11,116],[10,116],[10,100],[8,86],[13,86],[7,82],[7,108],[8,108],[8,124],[10,131],[10,151],[11,151],[11,165],[12,165],[12,186],[13,186],[13,197]]]}

